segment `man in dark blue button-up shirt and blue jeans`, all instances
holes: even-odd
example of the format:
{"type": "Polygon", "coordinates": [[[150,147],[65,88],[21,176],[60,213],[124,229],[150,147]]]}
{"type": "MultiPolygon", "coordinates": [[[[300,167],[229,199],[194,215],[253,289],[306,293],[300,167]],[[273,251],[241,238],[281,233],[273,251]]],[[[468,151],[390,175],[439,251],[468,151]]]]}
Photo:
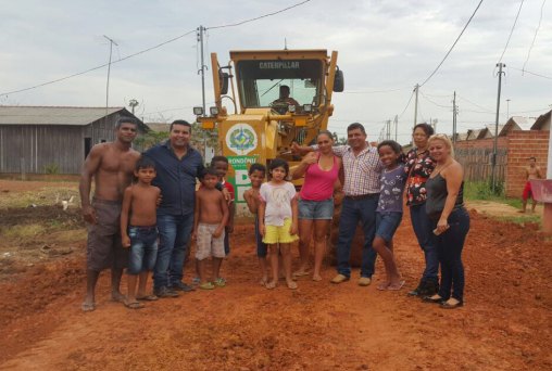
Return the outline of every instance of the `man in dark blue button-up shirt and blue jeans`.
{"type": "Polygon", "coordinates": [[[160,244],[153,271],[153,293],[159,297],[178,296],[176,291],[192,291],[183,282],[186,246],[193,227],[196,178],[203,172],[203,157],[190,145],[191,125],[171,124],[170,138],[145,155],[155,162],[152,184],[161,189],[158,208],[160,244]]]}

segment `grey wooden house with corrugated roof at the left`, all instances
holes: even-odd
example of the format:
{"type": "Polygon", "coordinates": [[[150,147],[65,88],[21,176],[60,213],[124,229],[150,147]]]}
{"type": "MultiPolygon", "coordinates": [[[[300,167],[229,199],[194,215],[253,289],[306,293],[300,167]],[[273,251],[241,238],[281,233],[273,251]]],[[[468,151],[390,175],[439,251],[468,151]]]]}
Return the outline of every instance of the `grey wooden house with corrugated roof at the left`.
{"type": "Polygon", "coordinates": [[[92,145],[115,139],[124,107],[0,106],[0,172],[79,174],[92,145]]]}

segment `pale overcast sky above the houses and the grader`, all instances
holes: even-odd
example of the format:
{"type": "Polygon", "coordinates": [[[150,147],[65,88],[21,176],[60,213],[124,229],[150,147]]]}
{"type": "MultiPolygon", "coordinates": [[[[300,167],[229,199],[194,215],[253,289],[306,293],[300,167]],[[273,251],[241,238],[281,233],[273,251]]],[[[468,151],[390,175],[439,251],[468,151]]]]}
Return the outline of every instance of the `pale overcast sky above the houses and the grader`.
{"type": "MultiPolygon", "coordinates": [[[[141,0],[2,1],[0,93],[24,89],[108,62],[109,42],[118,47],[113,61],[195,30],[233,24],[276,12],[301,0],[141,0]]],[[[401,115],[399,141],[410,140],[414,85],[436,68],[479,0],[335,1],[312,0],[292,10],[241,26],[211,29],[205,55],[244,49],[327,49],[339,52],[346,91],[334,94],[330,130],[346,133],[352,121],[377,140],[384,121],[401,115]],[[389,91],[392,90],[392,91],[389,91]],[[406,110],[405,110],[406,107],[406,110]]],[[[452,93],[457,93],[459,131],[494,123],[495,64],[504,50],[519,0],[486,0],[438,73],[421,88],[418,121],[438,119],[440,132],[452,131],[452,93]],[[475,103],[475,104],[474,104],[475,103]]],[[[510,116],[539,116],[552,104],[552,3],[526,0],[502,62],[506,64],[501,123],[510,116]],[[527,61],[527,63],[526,63],[527,61]],[[528,73],[547,76],[538,77],[528,73]],[[515,69],[517,68],[517,69],[515,69]],[[510,103],[506,103],[510,100],[510,103]]],[[[185,118],[201,105],[196,34],[111,68],[110,106],[140,102],[146,121],[185,118]]],[[[210,72],[209,72],[210,73],[210,72]]],[[[205,81],[212,102],[212,81],[205,81]]],[[[105,104],[106,67],[58,84],[0,97],[0,104],[105,104]]]]}

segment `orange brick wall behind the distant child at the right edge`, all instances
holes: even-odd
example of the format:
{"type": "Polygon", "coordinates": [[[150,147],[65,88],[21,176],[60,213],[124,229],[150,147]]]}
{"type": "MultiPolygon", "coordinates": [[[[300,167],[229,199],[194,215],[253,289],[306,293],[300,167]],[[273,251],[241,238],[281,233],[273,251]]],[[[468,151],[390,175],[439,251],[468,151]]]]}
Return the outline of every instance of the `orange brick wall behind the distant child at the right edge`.
{"type": "Polygon", "coordinates": [[[540,130],[514,130],[507,135],[506,196],[522,196],[528,157],[537,157],[537,166],[547,176],[549,136],[550,131],[540,130]]]}

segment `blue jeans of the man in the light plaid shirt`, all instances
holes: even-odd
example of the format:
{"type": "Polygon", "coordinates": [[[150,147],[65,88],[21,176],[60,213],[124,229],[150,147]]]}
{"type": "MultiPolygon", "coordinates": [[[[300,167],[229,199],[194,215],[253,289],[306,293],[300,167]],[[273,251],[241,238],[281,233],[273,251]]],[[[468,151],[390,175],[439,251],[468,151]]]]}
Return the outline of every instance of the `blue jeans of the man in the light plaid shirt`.
{"type": "Polygon", "coordinates": [[[376,234],[376,208],[378,194],[362,200],[343,199],[341,217],[339,219],[339,236],[337,240],[337,271],[351,277],[351,243],[354,238],[356,225],[362,222],[364,244],[362,245],[361,277],[372,277],[375,271],[376,252],[372,242],[376,234]]]}

